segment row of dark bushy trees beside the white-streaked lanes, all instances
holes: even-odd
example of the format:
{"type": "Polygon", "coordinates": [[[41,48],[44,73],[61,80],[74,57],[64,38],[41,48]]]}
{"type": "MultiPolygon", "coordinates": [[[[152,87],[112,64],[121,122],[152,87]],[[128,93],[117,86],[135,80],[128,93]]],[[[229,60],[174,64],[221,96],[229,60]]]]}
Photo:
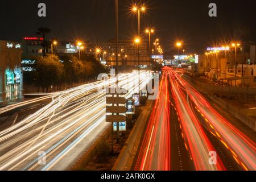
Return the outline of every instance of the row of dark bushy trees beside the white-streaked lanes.
{"type": "Polygon", "coordinates": [[[81,60],[77,55],[51,54],[33,57],[32,60],[35,60],[35,63],[29,65],[31,71],[24,72],[24,84],[38,87],[38,92],[72,87],[106,72],[105,67],[94,55],[85,53],[81,55],[81,60]]]}

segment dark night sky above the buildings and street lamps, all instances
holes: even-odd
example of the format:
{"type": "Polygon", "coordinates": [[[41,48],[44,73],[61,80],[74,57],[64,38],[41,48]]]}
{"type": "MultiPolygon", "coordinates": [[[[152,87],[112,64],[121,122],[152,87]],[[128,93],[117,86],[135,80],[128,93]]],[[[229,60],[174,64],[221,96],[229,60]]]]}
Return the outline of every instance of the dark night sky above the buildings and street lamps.
{"type": "MultiPolygon", "coordinates": [[[[137,18],[130,13],[139,1],[119,0],[119,39],[133,39],[137,18]]],[[[173,51],[176,40],[185,49],[203,52],[207,46],[232,39],[256,40],[256,1],[145,0],[142,28],[155,27],[164,52],[173,51]],[[210,2],[217,3],[217,18],[208,16],[210,2]]],[[[48,38],[84,40],[101,46],[114,39],[114,0],[0,0],[0,39],[20,40],[35,36],[38,27],[51,28],[48,38]],[[38,3],[47,5],[47,17],[38,17],[38,3]]]]}

